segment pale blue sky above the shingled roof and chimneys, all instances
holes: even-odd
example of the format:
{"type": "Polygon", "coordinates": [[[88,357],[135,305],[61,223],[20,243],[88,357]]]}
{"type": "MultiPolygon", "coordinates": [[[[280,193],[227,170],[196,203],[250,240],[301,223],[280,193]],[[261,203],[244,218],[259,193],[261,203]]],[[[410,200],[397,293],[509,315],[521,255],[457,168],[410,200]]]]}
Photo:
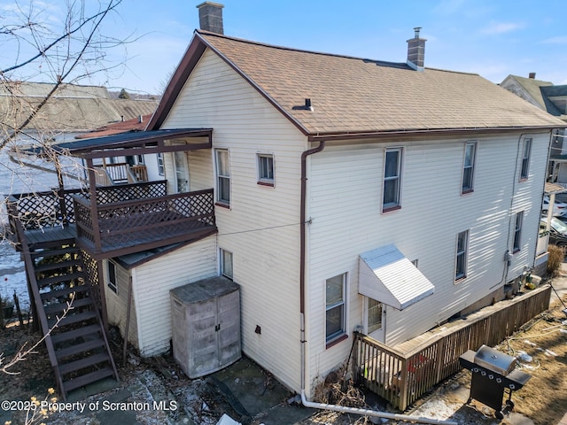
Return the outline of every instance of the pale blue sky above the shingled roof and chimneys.
{"type": "MultiPolygon", "coordinates": [[[[57,4],[63,0],[42,1],[57,4]]],[[[10,3],[0,0],[0,11],[4,2],[10,3]]],[[[414,27],[422,27],[421,36],[427,40],[426,67],[479,73],[495,83],[510,73],[527,77],[533,72],[538,80],[567,84],[564,0],[217,2],[224,4],[224,34],[229,36],[405,62],[407,40],[414,36],[414,27]]],[[[123,0],[101,30],[136,41],[124,46],[126,50],[108,54],[123,66],[113,69],[107,80],[83,83],[160,94],[198,28],[196,6],[200,3],[202,0],[123,0]]]]}

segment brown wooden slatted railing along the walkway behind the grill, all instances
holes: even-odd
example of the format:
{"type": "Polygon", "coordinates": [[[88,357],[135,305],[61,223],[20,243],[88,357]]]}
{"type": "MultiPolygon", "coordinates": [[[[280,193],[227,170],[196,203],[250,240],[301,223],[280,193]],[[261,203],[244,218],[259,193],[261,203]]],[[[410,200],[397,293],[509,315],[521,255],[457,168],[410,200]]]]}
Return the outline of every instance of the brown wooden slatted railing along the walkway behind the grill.
{"type": "Polygon", "coordinates": [[[546,285],[521,297],[502,301],[489,313],[473,313],[459,325],[432,335],[409,352],[381,344],[354,333],[355,381],[365,385],[392,406],[406,410],[428,390],[462,369],[459,356],[477,351],[482,344],[493,346],[516,332],[525,322],[549,306],[551,288],[546,285]]]}

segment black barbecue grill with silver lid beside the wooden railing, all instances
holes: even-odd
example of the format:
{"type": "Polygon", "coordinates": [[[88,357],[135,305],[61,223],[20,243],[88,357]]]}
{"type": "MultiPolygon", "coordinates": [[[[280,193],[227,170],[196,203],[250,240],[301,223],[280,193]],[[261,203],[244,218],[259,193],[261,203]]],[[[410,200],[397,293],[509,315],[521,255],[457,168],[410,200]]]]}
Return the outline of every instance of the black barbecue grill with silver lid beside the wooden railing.
{"type": "Polygon", "coordinates": [[[470,400],[479,402],[494,409],[494,416],[504,418],[504,409],[512,410],[512,392],[520,390],[532,377],[516,369],[517,359],[498,350],[483,345],[477,352],[469,350],[459,358],[462,367],[472,372],[470,383],[470,400]],[[509,391],[509,397],[502,406],[504,391],[509,391]]]}

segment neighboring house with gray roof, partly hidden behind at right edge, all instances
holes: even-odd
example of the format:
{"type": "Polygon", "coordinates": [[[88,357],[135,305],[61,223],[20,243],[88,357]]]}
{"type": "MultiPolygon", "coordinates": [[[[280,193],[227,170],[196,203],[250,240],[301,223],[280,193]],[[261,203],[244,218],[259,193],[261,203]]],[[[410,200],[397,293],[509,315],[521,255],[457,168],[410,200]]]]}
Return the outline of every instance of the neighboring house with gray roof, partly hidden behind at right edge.
{"type": "MultiPolygon", "coordinates": [[[[530,73],[529,78],[509,75],[500,85],[567,123],[567,84],[555,86],[552,82],[536,80],[535,73],[530,73]]],[[[564,189],[567,189],[566,136],[563,128],[551,137],[547,179],[564,189]]]]}

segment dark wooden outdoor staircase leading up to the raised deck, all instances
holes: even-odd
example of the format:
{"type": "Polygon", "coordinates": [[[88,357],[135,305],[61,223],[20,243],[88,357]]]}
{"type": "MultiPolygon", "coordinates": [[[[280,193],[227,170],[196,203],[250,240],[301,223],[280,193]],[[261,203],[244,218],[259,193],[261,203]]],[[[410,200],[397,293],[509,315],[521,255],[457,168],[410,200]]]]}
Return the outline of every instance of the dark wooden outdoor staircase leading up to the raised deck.
{"type": "Polygon", "coordinates": [[[61,396],[109,376],[118,381],[95,289],[74,239],[19,241],[61,396]]]}

